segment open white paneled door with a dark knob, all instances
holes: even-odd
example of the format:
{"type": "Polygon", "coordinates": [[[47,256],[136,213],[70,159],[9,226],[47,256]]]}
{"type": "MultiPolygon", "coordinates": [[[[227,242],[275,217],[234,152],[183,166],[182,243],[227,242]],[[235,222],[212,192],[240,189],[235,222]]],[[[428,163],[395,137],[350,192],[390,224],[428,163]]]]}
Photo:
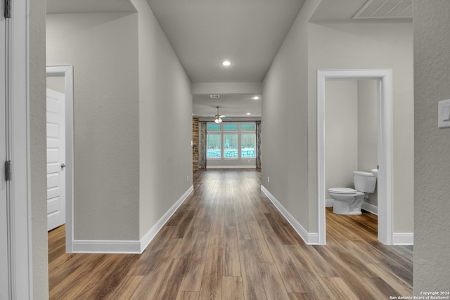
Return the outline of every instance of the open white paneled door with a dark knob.
{"type": "Polygon", "coordinates": [[[47,230],[65,223],[65,100],[47,89],[47,230]]]}

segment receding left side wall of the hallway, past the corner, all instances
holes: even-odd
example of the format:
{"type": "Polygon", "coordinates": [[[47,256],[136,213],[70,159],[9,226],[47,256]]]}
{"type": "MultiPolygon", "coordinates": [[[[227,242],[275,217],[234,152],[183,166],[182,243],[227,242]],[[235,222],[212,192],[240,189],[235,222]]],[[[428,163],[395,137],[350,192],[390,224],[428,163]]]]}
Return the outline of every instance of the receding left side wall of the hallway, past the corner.
{"type": "Polygon", "coordinates": [[[192,185],[191,81],[145,0],[139,27],[139,237],[192,185]]]}

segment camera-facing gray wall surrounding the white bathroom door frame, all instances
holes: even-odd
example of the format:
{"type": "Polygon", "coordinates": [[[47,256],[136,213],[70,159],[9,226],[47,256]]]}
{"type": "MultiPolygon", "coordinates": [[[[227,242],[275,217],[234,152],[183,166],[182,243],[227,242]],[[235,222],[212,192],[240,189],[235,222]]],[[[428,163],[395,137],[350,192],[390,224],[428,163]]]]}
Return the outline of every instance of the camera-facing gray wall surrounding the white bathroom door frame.
{"type": "MultiPolygon", "coordinates": [[[[411,22],[309,24],[309,159],[316,157],[316,72],[392,69],[393,228],[413,232],[413,27],[411,22]],[[333,51],[330,51],[333,49],[333,51]]],[[[311,172],[314,170],[312,164],[311,172]]],[[[311,183],[315,182],[311,178],[311,183]]],[[[314,184],[314,187],[316,184],[314,184]]],[[[310,190],[311,192],[311,190],[310,190]]],[[[316,201],[316,195],[311,198],[316,201]]],[[[312,203],[311,203],[312,205],[312,203]]]]}

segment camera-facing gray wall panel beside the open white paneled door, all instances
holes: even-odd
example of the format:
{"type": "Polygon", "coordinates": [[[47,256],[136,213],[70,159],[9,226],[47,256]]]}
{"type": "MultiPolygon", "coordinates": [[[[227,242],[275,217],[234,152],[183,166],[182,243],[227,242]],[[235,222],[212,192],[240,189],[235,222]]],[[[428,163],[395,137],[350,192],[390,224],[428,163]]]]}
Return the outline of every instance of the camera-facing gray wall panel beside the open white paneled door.
{"type": "Polygon", "coordinates": [[[75,240],[138,240],[137,14],[46,22],[47,65],[74,65],[75,240]]]}

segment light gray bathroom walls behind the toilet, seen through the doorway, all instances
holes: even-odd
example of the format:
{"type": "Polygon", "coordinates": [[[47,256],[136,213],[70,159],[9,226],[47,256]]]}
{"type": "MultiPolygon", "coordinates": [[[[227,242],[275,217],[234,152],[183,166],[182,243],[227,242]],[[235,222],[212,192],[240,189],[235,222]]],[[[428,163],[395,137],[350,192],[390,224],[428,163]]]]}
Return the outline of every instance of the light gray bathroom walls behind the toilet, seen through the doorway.
{"type": "MultiPolygon", "coordinates": [[[[378,166],[378,82],[330,80],[325,86],[325,190],[354,189],[353,171],[371,174],[378,166]]],[[[366,194],[362,209],[378,215],[377,190],[366,194]]],[[[334,200],[325,194],[326,207],[334,200]]]]}

